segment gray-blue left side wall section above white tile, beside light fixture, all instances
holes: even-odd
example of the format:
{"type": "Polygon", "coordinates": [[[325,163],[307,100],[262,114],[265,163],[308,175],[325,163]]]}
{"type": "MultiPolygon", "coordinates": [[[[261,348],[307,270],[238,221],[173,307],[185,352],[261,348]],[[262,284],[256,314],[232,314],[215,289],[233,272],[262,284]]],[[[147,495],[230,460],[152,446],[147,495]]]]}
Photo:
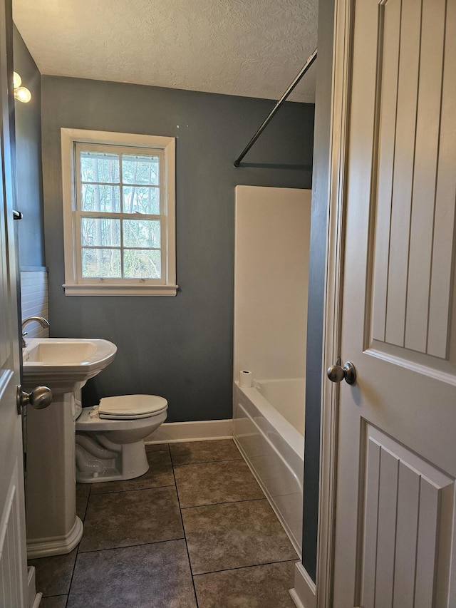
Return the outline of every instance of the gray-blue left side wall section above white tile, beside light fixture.
{"type": "Polygon", "coordinates": [[[31,101],[16,101],[16,207],[24,214],[17,222],[21,267],[44,265],[43,183],[41,170],[41,75],[14,26],[14,71],[31,92],[31,101]]]}

